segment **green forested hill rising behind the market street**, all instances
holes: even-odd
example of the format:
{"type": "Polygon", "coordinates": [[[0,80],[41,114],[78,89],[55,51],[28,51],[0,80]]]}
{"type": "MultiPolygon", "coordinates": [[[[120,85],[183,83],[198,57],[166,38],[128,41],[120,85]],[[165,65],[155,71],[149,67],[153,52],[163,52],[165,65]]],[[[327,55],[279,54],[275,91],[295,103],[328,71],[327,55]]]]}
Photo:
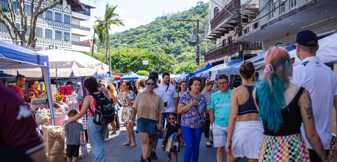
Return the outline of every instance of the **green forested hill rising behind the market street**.
{"type": "MultiPolygon", "coordinates": [[[[208,12],[208,3],[198,2],[197,6],[189,10],[166,14],[157,17],[149,24],[111,35],[111,52],[114,52],[112,54],[112,71],[119,72],[119,48],[112,43],[112,41],[119,43],[119,38],[122,43],[129,41],[127,45],[122,46],[122,72],[136,71],[137,61],[140,62],[139,70],[175,71],[177,73],[195,71],[194,48],[196,42],[190,42],[188,37],[192,32],[196,34],[196,22],[178,22],[177,19],[201,20],[199,31],[202,37],[200,48],[201,55],[203,55],[206,51],[206,41],[203,40],[203,35],[205,25],[209,21],[208,12]],[[181,38],[189,45],[180,39],[171,39],[171,37],[181,38]],[[144,59],[149,59],[149,65],[141,65],[144,59]],[[178,63],[177,60],[182,63],[178,63]]],[[[208,42],[209,47],[213,44],[212,41],[208,42]]],[[[97,45],[98,52],[105,54],[104,43],[97,45]]]]}

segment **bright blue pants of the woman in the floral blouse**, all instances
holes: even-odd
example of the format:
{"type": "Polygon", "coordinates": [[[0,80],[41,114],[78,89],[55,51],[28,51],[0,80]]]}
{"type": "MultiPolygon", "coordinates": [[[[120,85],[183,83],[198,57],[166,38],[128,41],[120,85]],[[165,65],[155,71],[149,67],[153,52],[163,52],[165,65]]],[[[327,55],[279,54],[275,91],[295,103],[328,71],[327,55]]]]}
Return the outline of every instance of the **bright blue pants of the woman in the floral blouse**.
{"type": "Polygon", "coordinates": [[[197,162],[199,157],[199,145],[201,140],[201,127],[189,128],[181,126],[181,131],[185,139],[184,162],[197,162]]]}

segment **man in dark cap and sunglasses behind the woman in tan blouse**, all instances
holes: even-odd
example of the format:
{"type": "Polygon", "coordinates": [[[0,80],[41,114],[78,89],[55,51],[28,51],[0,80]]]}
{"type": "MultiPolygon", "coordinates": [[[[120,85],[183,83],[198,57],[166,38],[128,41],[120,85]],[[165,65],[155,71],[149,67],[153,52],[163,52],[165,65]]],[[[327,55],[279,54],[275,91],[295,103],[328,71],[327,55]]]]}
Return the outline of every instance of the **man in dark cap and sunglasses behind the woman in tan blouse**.
{"type": "MultiPolygon", "coordinates": [[[[161,97],[161,100],[163,100],[164,102],[164,106],[165,106],[165,109],[166,109],[166,106],[167,106],[167,103],[168,103],[168,96],[165,92],[164,89],[160,88],[158,85],[157,85],[157,82],[158,82],[158,78],[159,78],[159,75],[158,73],[156,72],[151,72],[149,74],[149,78],[150,77],[153,77],[155,79],[155,83],[154,83],[154,89],[153,89],[153,92],[155,92],[156,94],[158,94],[160,97],[161,97]]],[[[146,91],[146,88],[143,88],[141,92],[145,92],[146,91]]],[[[158,136],[155,136],[154,137],[154,140],[153,140],[153,148],[152,148],[152,152],[149,152],[149,155],[148,157],[151,155],[151,159],[158,159],[157,155],[156,155],[156,148],[157,148],[157,143],[158,143],[158,139],[162,139],[164,138],[163,136],[163,132],[161,130],[158,130],[158,136]]]]}

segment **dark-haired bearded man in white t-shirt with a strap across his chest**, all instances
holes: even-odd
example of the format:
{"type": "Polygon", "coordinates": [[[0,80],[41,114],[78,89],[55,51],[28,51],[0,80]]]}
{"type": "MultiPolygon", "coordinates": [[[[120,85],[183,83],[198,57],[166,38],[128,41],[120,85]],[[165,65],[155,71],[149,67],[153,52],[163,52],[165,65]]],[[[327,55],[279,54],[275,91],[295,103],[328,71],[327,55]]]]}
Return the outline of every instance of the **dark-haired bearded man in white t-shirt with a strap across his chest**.
{"type": "MultiPolygon", "coordinates": [[[[178,95],[176,92],[176,88],[170,84],[170,73],[164,72],[162,75],[162,83],[158,85],[160,88],[166,91],[168,102],[167,102],[167,107],[165,107],[165,112],[163,113],[163,118],[162,118],[162,126],[166,125],[165,123],[168,123],[168,113],[169,112],[177,112],[178,109],[178,95]],[[166,122],[165,122],[166,119],[166,122]]],[[[165,137],[165,133],[163,132],[163,137],[165,137]]],[[[164,147],[164,138],[162,139],[161,142],[161,147],[164,147]]]]}

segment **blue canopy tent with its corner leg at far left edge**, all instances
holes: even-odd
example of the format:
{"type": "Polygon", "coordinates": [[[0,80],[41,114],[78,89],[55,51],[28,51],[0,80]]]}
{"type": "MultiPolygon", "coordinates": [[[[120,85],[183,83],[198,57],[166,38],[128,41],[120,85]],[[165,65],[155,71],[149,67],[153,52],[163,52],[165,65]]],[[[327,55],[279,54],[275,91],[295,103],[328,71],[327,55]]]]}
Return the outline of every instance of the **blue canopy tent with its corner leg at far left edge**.
{"type": "MultiPolygon", "coordinates": [[[[38,54],[32,50],[0,40],[0,62],[0,69],[4,70],[4,72],[12,69],[41,68],[45,88],[47,90],[50,112],[54,112],[48,56],[38,54]]],[[[54,113],[51,113],[51,115],[52,123],[55,124],[54,113]]]]}

